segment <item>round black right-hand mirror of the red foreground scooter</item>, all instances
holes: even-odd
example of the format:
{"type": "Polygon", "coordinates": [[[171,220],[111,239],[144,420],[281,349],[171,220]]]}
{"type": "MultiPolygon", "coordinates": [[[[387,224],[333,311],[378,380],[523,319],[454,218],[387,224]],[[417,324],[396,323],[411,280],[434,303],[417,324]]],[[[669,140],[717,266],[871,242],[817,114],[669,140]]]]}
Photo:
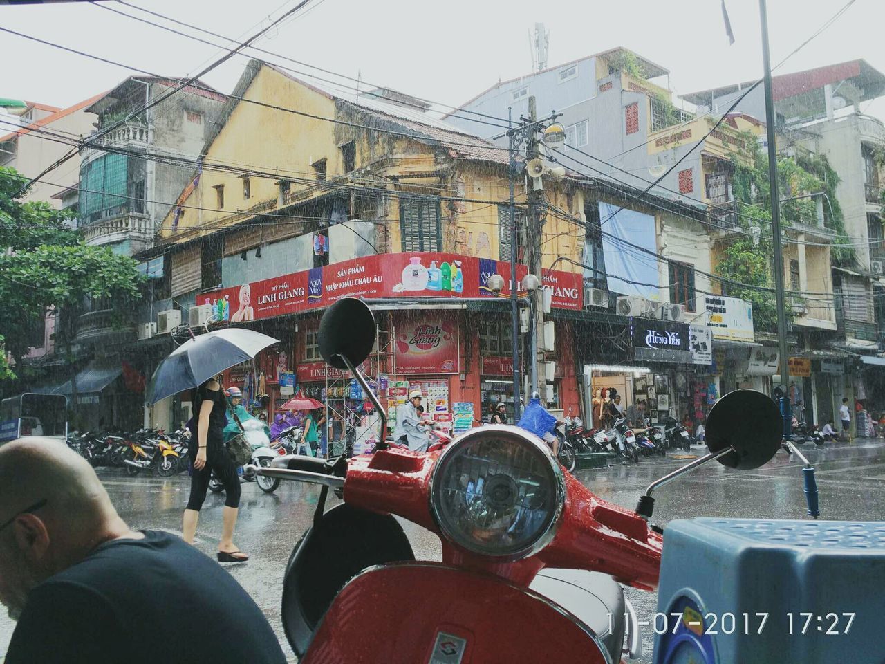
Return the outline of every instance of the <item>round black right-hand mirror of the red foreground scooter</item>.
{"type": "Polygon", "coordinates": [[[755,390],[736,390],[720,398],[707,415],[710,452],[729,445],[735,452],[720,457],[723,466],[752,470],[764,466],[781,449],[783,421],[772,399],[755,390]]]}

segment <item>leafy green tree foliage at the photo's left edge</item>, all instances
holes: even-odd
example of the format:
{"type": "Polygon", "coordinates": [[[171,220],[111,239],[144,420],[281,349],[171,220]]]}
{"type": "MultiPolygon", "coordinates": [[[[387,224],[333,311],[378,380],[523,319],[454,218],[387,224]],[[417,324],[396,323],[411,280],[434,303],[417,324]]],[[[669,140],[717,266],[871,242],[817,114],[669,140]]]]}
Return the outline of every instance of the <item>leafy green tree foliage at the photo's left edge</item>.
{"type": "MultiPolygon", "coordinates": [[[[73,320],[90,299],[99,298],[112,298],[123,310],[140,297],[141,281],[133,259],[84,244],[69,226],[70,212],[22,202],[18,192],[24,182],[15,170],[0,168],[0,302],[5,312],[0,335],[17,367],[48,311],[73,320]]],[[[57,344],[69,347],[73,332],[75,328],[58,326],[57,344]]],[[[0,366],[0,380],[4,378],[10,375],[0,366]]]]}

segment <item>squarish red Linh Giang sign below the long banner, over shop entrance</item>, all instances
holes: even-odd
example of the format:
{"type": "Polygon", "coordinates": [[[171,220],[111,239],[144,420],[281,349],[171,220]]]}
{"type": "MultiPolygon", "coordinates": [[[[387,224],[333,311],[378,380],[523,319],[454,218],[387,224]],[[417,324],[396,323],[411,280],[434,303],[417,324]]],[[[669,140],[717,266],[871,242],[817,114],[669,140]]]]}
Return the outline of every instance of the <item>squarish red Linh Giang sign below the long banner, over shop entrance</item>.
{"type": "Polygon", "coordinates": [[[457,374],[458,322],[438,313],[396,325],[396,374],[457,374]]]}

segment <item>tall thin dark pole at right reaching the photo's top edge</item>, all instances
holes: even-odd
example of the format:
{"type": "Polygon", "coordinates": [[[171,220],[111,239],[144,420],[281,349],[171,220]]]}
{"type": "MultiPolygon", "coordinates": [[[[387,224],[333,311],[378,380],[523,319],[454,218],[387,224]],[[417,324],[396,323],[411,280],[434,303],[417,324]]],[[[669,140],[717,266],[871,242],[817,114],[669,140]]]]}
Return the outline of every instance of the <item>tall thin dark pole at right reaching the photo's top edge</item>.
{"type": "Polygon", "coordinates": [[[789,355],[787,354],[787,312],[784,305],[783,290],[783,250],[781,247],[781,199],[778,195],[777,146],[775,140],[775,115],[772,95],[772,64],[768,48],[768,12],[766,0],[759,0],[759,15],[762,24],[762,61],[765,67],[766,90],[766,129],[768,132],[768,178],[771,181],[772,197],[772,235],[774,248],[774,301],[777,306],[777,336],[781,352],[781,390],[784,399],[781,402],[781,413],[784,418],[784,436],[792,430],[789,421],[789,355]]]}

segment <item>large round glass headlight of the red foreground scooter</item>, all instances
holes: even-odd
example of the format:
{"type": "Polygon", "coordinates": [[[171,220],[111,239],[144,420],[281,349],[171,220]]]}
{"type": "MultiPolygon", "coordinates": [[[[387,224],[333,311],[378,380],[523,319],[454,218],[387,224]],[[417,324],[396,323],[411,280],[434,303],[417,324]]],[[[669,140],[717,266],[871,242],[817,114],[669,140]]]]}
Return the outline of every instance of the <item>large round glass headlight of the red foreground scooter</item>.
{"type": "Polygon", "coordinates": [[[443,534],[467,551],[508,560],[550,543],[565,502],[565,478],[550,448],[505,425],[461,436],[430,478],[430,508],[443,534]]]}

